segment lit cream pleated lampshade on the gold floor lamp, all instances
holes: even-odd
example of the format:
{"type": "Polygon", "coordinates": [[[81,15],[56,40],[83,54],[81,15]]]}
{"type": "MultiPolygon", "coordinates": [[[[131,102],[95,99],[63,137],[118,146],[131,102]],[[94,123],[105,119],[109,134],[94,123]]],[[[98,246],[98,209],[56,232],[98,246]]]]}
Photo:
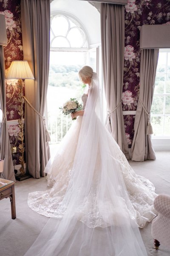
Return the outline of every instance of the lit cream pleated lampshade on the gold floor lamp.
{"type": "Polygon", "coordinates": [[[28,61],[12,61],[6,79],[34,79],[28,61]]]}

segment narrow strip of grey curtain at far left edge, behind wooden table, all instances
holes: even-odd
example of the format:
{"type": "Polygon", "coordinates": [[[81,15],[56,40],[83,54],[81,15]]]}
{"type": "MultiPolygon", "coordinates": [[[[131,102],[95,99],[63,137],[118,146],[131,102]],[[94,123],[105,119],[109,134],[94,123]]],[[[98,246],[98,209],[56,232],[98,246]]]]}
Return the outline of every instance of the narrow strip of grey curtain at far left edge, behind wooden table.
{"type": "Polygon", "coordinates": [[[3,46],[0,45],[0,108],[3,111],[3,122],[0,124],[0,159],[4,160],[3,175],[8,180],[15,180],[14,166],[12,163],[11,148],[6,119],[6,87],[5,87],[5,62],[3,46]]]}

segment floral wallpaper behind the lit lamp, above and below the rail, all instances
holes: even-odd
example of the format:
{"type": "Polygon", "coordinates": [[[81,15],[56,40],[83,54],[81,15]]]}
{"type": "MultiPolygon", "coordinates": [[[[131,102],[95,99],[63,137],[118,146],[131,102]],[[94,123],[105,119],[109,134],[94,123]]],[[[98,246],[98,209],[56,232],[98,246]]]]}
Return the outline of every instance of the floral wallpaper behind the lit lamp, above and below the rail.
{"type": "MultiPolygon", "coordinates": [[[[23,60],[23,45],[21,31],[20,0],[0,0],[0,13],[5,15],[8,44],[4,47],[6,73],[12,61],[23,60]]],[[[23,88],[23,94],[24,88],[23,88]]],[[[24,106],[23,106],[24,111],[24,106]]],[[[11,148],[16,147],[13,154],[15,165],[20,163],[20,128],[17,119],[20,119],[20,87],[15,79],[6,79],[6,115],[8,121],[14,121],[14,125],[8,125],[11,148]]]]}

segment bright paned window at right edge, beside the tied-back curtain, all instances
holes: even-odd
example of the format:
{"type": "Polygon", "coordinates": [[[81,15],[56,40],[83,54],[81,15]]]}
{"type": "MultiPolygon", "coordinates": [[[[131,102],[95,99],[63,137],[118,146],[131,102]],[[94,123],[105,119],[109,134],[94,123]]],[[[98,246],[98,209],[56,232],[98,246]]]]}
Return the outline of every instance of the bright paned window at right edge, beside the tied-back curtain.
{"type": "Polygon", "coordinates": [[[170,49],[159,50],[151,122],[156,137],[170,137],[170,49]]]}

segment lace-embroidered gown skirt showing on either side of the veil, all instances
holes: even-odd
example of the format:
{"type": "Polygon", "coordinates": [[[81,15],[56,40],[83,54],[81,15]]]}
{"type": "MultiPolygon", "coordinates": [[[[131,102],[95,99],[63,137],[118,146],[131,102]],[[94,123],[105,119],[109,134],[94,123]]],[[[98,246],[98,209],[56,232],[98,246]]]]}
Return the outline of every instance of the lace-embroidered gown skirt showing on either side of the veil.
{"type": "MultiPolygon", "coordinates": [[[[82,116],[79,116],[65,135],[52,165],[51,161],[49,161],[46,166],[45,172],[48,173],[48,186],[52,186],[52,188],[46,191],[32,192],[28,195],[28,206],[39,214],[47,217],[61,218],[65,213],[65,209],[61,209],[60,203],[64,198],[70,182],[81,123],[82,116]]],[[[148,179],[136,175],[125,155],[120,150],[119,145],[114,140],[113,143],[112,146],[114,146],[115,155],[115,159],[113,159],[113,162],[115,161],[114,166],[117,165],[118,171],[122,174],[123,182],[125,183],[128,196],[133,205],[133,207],[130,207],[131,218],[135,219],[138,226],[143,228],[146,222],[152,221],[156,216],[156,211],[153,208],[153,201],[156,197],[155,187],[148,179]]],[[[100,155],[99,152],[98,155],[100,155]]],[[[101,165],[101,160],[100,157],[96,159],[97,172],[101,165]]],[[[97,174],[96,177],[94,175],[94,184],[95,179],[97,179],[97,174]]],[[[95,189],[94,192],[89,193],[88,199],[84,202],[82,209],[79,209],[78,219],[89,227],[104,227],[105,223],[102,223],[102,219],[98,218],[96,221],[96,218],[94,218],[93,221],[93,218],[90,218],[89,221],[89,216],[87,217],[87,215],[97,215],[97,204],[100,204],[100,211],[105,212],[104,215],[109,212],[113,218],[117,218],[115,216],[118,216],[117,219],[122,221],[122,218],[120,218],[122,208],[114,209],[108,198],[105,199],[105,202],[97,202],[95,189]],[[86,215],[85,212],[88,212],[88,214],[86,215]]]]}

